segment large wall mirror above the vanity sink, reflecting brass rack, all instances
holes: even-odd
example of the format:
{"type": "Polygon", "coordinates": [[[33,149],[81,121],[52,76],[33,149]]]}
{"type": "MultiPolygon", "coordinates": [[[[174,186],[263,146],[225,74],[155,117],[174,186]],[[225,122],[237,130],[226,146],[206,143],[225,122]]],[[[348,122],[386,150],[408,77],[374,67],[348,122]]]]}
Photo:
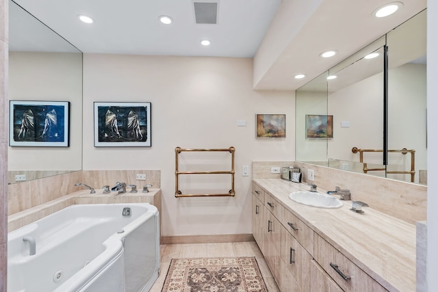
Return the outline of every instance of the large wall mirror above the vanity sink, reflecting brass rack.
{"type": "Polygon", "coordinates": [[[426,10],[296,91],[297,161],[426,185],[426,143],[426,10]],[[307,137],[309,115],[333,136],[307,137]]]}

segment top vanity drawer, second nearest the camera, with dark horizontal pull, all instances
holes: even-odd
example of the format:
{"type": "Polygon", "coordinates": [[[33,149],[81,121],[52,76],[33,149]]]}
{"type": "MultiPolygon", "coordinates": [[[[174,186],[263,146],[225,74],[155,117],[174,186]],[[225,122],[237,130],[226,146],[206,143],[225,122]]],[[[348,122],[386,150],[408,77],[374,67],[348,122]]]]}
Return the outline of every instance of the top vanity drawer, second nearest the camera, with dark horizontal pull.
{"type": "Polygon", "coordinates": [[[283,207],[280,222],[286,230],[309,252],[313,254],[313,230],[283,207]]]}

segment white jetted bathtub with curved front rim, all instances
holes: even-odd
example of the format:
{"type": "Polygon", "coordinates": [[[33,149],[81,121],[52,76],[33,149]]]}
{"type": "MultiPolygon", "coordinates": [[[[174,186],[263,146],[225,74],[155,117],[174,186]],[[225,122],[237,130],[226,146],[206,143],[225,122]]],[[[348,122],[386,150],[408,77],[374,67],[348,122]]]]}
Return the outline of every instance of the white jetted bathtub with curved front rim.
{"type": "Polygon", "coordinates": [[[151,204],[72,205],[8,234],[8,292],[149,291],[158,273],[151,204]]]}

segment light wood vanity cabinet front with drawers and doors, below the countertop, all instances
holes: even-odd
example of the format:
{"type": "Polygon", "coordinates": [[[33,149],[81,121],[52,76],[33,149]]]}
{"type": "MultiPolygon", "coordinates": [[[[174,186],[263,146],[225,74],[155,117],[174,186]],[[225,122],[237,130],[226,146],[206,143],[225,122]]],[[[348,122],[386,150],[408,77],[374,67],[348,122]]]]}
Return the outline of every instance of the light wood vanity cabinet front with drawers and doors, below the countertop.
{"type": "Polygon", "coordinates": [[[387,291],[253,183],[253,235],[282,292],[387,291]]]}

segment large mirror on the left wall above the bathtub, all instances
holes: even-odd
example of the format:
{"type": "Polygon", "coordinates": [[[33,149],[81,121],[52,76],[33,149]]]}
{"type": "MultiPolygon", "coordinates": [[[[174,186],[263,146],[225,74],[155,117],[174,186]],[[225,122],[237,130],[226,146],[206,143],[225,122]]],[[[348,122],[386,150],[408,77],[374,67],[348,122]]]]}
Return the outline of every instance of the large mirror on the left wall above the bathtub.
{"type": "Polygon", "coordinates": [[[70,102],[70,145],[9,146],[8,183],[81,170],[81,51],[14,1],[9,29],[9,99],[70,102]]]}

